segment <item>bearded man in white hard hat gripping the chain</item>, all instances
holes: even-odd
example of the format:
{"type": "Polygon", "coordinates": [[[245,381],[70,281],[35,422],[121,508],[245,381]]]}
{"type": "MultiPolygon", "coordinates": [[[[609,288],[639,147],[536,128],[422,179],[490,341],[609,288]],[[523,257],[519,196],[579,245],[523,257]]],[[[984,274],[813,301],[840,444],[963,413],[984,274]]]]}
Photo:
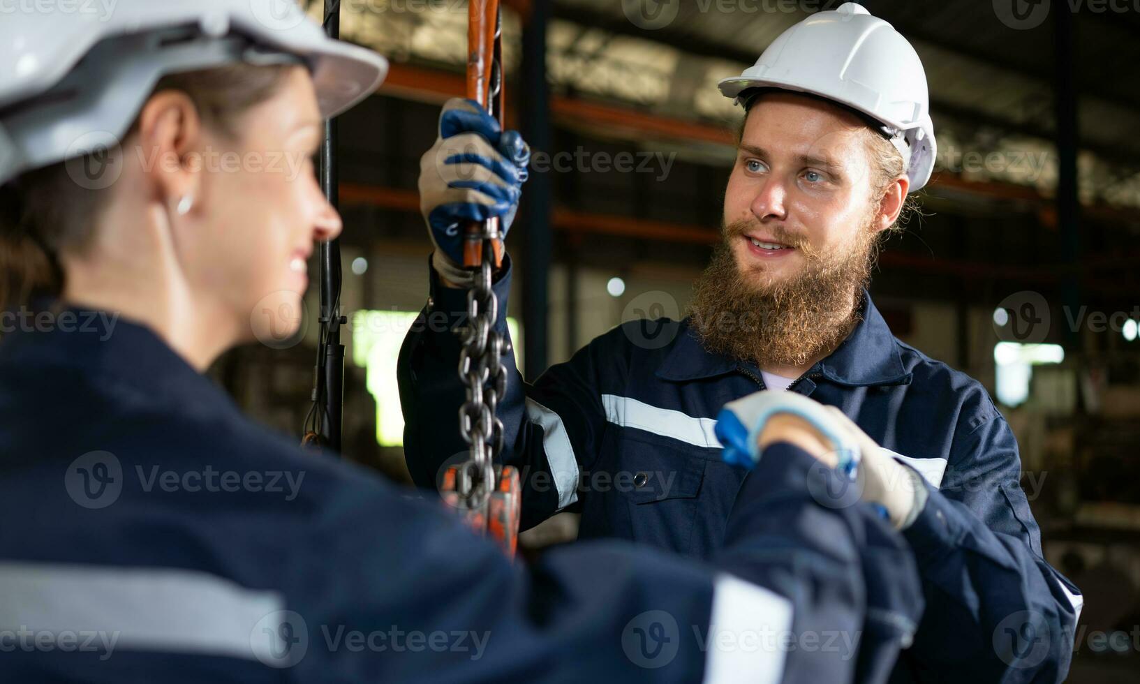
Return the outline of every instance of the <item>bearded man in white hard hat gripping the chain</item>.
{"type": "MultiPolygon", "coordinates": [[[[739,505],[736,464],[757,451],[743,437],[755,425],[722,443],[715,416],[727,402],[747,416],[752,399],[742,398],[787,390],[833,407],[865,445],[853,505],[879,506],[918,561],[927,610],[893,681],[1064,679],[1081,597],[1042,557],[1009,425],[978,382],[895,339],[865,288],[882,236],[934,166],[918,55],[846,3],[789,28],[720,89],[746,119],[723,241],[691,316],[618,326],[534,385],[504,359],[513,380],[498,410],[503,461],[523,473],[523,529],[578,511],[581,538],[711,557],[739,505]]],[[[449,138],[441,131],[424,156],[431,299],[399,366],[408,467],[424,487],[465,449],[440,418],[464,400],[458,344],[426,318],[457,323],[465,311],[470,275],[455,266],[448,228],[508,222],[518,201],[516,178],[496,171],[491,153],[467,155],[483,161],[446,184],[434,160],[458,158],[449,138]]],[[[497,277],[505,329],[508,263],[497,277]]]]}

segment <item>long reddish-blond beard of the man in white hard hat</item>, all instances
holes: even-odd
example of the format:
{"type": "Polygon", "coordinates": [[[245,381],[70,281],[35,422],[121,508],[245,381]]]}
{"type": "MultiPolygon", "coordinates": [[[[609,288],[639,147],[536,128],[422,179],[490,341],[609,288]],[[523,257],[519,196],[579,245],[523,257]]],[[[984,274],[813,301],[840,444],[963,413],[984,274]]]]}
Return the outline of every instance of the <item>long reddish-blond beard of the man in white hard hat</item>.
{"type": "Polygon", "coordinates": [[[832,351],[858,321],[880,234],[868,220],[854,244],[837,254],[777,235],[801,250],[805,267],[784,280],[758,285],[741,272],[732,249],[750,227],[747,221],[723,227],[724,239],[693,284],[689,312],[703,347],[762,368],[799,367],[832,351]]]}

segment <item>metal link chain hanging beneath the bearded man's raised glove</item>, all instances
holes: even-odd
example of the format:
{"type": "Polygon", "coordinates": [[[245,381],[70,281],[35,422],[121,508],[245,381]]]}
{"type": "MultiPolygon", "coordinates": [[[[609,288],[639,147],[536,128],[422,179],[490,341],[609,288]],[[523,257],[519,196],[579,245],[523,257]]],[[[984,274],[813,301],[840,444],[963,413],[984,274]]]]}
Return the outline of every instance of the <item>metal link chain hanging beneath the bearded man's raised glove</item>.
{"type": "MultiPolygon", "coordinates": [[[[496,25],[496,50],[491,63],[488,112],[495,116],[498,95],[503,88],[502,58],[498,40],[502,23],[496,25]]],[[[456,491],[467,507],[478,508],[496,487],[495,458],[503,451],[503,421],[496,415],[499,401],[506,396],[506,366],[503,355],[508,353],[506,335],[495,329],[498,319],[498,298],[495,296],[495,241],[502,238],[498,219],[483,222],[482,263],[475,272],[474,285],[467,292],[467,324],[463,328],[463,349],[459,352],[459,378],[467,388],[467,400],[459,408],[459,434],[470,445],[470,458],[459,466],[456,491]]]]}

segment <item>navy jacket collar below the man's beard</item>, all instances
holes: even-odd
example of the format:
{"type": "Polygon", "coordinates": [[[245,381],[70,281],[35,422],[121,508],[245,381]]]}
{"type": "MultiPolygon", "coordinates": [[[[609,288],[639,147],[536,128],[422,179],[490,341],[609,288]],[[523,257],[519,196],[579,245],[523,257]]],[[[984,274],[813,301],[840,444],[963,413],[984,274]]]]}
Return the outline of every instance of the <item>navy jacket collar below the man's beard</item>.
{"type": "MultiPolygon", "coordinates": [[[[677,341],[657,370],[658,377],[668,381],[699,380],[731,373],[741,366],[751,366],[740,359],[707,351],[691,323],[686,318],[682,324],[677,341]]],[[[831,355],[816,364],[813,370],[847,386],[911,382],[911,374],[903,366],[895,336],[865,290],[855,329],[831,355]]]]}

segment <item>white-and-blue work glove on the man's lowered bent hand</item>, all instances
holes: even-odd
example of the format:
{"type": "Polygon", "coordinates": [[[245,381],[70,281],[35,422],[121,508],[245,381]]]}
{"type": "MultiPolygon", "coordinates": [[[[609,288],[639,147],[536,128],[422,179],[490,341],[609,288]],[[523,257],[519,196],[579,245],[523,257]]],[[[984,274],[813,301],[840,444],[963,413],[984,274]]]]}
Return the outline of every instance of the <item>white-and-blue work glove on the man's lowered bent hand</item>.
{"type": "Polygon", "coordinates": [[[779,414],[803,418],[830,442],[828,465],[846,475],[860,498],[876,506],[896,529],[909,527],[926,506],[921,475],[895,461],[838,408],[795,392],[765,390],[726,404],[715,427],[725,462],[754,467],[763,456],[760,433],[779,414]]]}

